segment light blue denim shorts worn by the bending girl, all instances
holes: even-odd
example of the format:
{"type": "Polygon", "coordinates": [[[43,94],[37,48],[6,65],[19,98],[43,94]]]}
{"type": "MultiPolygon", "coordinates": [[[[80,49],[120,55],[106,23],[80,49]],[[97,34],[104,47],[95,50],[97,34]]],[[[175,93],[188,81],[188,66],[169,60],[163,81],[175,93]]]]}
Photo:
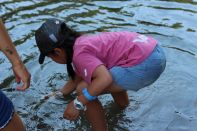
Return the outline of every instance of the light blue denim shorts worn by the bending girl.
{"type": "Polygon", "coordinates": [[[166,57],[157,44],[153,52],[142,63],[131,67],[115,66],[110,69],[115,84],[124,90],[138,91],[155,82],[166,67],[166,57]]]}

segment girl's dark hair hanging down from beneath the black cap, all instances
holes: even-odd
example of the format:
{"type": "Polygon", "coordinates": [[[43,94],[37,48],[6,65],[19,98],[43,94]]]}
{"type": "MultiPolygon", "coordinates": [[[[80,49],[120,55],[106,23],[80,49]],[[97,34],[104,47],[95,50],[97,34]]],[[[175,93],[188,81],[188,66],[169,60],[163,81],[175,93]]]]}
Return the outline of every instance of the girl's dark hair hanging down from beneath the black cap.
{"type": "Polygon", "coordinates": [[[81,34],[69,28],[65,23],[61,24],[61,33],[65,35],[65,39],[62,42],[60,48],[63,48],[66,52],[66,60],[67,60],[67,72],[68,76],[74,80],[75,79],[75,71],[72,66],[72,58],[73,58],[73,46],[77,37],[81,34]]]}

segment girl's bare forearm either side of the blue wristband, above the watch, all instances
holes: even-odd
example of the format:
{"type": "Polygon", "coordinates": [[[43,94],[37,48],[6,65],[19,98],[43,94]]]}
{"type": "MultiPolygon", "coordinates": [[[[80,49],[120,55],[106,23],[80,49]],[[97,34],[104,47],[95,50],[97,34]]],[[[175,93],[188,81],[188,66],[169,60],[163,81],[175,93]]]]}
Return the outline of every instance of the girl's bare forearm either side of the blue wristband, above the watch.
{"type": "MultiPolygon", "coordinates": [[[[97,96],[101,94],[107,87],[112,84],[112,77],[104,65],[98,66],[92,75],[92,82],[88,87],[88,92],[92,96],[97,96]]],[[[88,100],[80,95],[78,100],[81,101],[84,105],[88,103],[88,100]]]]}

